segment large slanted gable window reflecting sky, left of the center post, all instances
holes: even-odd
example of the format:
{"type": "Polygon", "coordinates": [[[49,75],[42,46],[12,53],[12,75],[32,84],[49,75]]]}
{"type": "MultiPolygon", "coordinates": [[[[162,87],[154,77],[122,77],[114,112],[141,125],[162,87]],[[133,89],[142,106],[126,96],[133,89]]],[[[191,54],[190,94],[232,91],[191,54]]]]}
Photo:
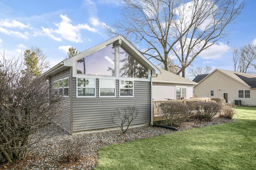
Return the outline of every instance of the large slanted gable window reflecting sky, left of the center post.
{"type": "Polygon", "coordinates": [[[115,49],[113,44],[77,60],[76,73],[115,76],[115,49]]]}

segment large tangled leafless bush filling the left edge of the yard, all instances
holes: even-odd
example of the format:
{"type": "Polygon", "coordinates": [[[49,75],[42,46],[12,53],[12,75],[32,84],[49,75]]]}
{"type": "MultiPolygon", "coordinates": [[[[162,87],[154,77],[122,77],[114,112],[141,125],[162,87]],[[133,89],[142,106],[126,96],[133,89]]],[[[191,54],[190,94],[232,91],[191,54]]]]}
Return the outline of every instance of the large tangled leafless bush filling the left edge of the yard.
{"type": "Polygon", "coordinates": [[[12,162],[26,158],[33,143],[44,135],[38,133],[58,120],[59,96],[49,92],[44,76],[22,74],[22,62],[0,60],[0,160],[12,162]]]}

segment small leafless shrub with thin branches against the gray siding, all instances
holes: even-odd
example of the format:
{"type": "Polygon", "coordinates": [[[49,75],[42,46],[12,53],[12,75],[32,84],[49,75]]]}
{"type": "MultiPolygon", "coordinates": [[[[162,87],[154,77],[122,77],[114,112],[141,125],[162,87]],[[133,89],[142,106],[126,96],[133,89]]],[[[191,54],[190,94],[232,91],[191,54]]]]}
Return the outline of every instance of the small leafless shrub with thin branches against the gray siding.
{"type": "Polygon", "coordinates": [[[126,133],[131,122],[138,116],[136,106],[120,106],[116,107],[111,113],[112,123],[121,128],[122,133],[126,133]]]}

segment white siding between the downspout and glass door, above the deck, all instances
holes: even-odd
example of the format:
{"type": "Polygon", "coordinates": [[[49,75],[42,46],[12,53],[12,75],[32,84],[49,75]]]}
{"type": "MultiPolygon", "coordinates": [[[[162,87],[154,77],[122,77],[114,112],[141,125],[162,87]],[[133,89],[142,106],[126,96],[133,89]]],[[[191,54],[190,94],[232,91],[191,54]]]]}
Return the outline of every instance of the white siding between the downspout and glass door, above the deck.
{"type": "Polygon", "coordinates": [[[153,82],[152,94],[153,100],[175,99],[175,85],[153,82]]]}

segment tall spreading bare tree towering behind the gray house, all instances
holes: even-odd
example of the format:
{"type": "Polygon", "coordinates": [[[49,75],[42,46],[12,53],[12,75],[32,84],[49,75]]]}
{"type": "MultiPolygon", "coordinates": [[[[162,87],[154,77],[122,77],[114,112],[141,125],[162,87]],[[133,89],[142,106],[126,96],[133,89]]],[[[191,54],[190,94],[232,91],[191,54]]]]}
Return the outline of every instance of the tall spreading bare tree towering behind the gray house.
{"type": "Polygon", "coordinates": [[[107,27],[169,70],[169,57],[178,58],[182,76],[205,49],[228,35],[225,29],[244,8],[244,0],[124,0],[122,19],[107,27]]]}

